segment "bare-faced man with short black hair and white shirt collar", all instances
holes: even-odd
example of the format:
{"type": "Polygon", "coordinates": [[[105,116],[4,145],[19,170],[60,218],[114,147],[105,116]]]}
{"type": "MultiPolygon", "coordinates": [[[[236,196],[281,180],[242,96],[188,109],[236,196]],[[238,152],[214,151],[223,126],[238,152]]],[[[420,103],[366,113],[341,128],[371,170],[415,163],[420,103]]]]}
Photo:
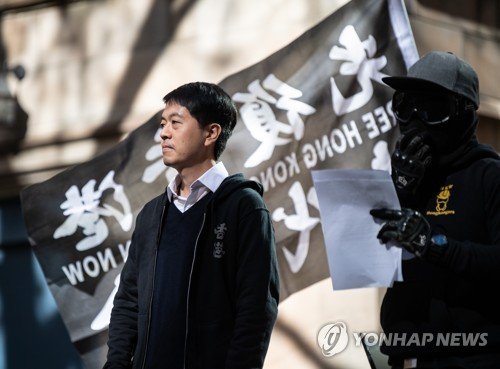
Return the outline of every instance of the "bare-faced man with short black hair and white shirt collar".
{"type": "Polygon", "coordinates": [[[262,186],[216,162],[236,109],[202,82],[164,102],[163,162],[178,174],[137,217],[104,368],[261,368],[278,270],[262,186]]]}

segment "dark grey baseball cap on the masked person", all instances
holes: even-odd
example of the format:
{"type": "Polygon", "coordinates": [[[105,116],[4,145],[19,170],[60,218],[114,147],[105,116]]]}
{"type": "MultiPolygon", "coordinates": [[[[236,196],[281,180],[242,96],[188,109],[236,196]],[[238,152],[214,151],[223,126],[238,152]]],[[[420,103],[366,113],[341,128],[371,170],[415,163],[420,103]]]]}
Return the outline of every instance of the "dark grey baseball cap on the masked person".
{"type": "Polygon", "coordinates": [[[413,64],[406,76],[384,77],[395,90],[446,90],[479,107],[479,82],[472,67],[450,52],[432,51],[413,64]]]}

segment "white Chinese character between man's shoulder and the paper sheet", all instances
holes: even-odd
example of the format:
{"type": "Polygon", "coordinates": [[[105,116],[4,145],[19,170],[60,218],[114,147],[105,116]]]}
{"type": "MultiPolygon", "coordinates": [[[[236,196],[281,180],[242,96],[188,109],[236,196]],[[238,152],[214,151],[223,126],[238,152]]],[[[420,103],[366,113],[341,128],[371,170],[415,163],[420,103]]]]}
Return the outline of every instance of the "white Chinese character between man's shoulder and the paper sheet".
{"type": "Polygon", "coordinates": [[[290,187],[288,195],[292,198],[296,214],[287,215],[285,213],[285,209],[280,207],[273,212],[273,220],[275,222],[283,220],[288,229],[300,232],[297,251],[295,254],[283,247],[283,252],[285,253],[285,258],[290,266],[290,269],[293,273],[297,273],[300,268],[302,268],[302,265],[304,265],[307,258],[311,231],[320,222],[319,218],[311,217],[309,215],[309,208],[307,204],[312,205],[318,210],[319,204],[314,187],[309,189],[306,199],[304,189],[298,181],[294,182],[290,187]]]}

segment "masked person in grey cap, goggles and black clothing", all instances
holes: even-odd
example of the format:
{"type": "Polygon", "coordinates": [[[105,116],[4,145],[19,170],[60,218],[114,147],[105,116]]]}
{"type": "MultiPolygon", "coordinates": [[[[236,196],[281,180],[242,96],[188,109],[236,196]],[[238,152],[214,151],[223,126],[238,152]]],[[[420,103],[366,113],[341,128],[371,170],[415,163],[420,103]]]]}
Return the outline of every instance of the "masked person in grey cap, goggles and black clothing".
{"type": "Polygon", "coordinates": [[[475,136],[477,75],[431,52],[383,81],[402,134],[391,158],[402,209],[371,214],[377,237],[414,257],[384,297],[381,350],[393,368],[500,368],[500,160],[475,136]]]}

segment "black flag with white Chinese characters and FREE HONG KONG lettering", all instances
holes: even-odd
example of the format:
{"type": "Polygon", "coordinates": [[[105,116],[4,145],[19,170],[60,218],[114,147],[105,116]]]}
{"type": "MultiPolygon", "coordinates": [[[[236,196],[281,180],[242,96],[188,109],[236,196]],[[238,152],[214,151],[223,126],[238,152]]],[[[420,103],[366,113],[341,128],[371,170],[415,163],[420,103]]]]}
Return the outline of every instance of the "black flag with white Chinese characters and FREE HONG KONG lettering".
{"type": "MultiPolygon", "coordinates": [[[[381,79],[417,58],[402,0],[352,0],[220,83],[240,114],[221,160],[264,185],[283,297],[329,276],[310,171],[389,169],[396,132],[381,79]]],[[[22,192],[35,254],[88,369],[105,361],[135,217],[175,176],[159,142],[156,114],[111,150],[22,192]]]]}

